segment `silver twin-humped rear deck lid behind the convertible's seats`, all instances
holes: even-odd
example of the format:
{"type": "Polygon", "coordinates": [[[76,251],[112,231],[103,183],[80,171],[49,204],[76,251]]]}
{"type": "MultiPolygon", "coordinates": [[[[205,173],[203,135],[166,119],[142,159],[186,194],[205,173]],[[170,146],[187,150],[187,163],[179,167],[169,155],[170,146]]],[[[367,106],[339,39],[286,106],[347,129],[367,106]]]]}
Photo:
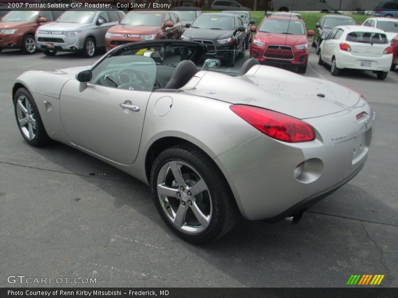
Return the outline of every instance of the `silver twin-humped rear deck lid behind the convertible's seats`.
{"type": "Polygon", "coordinates": [[[199,82],[195,86],[187,84],[185,92],[258,106],[299,119],[337,113],[359,101],[357,93],[333,82],[269,66],[254,66],[247,74],[236,77],[209,71],[196,76],[200,77],[199,82]]]}

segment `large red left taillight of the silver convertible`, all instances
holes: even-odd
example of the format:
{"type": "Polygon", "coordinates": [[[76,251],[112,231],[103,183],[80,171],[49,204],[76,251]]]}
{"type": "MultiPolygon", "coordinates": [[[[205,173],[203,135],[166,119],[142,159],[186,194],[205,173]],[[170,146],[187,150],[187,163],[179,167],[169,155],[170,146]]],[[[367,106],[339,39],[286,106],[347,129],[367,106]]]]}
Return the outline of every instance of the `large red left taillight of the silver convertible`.
{"type": "Polygon", "coordinates": [[[289,143],[315,140],[313,127],[297,118],[247,105],[231,105],[230,109],[260,132],[273,139],[289,143]]]}

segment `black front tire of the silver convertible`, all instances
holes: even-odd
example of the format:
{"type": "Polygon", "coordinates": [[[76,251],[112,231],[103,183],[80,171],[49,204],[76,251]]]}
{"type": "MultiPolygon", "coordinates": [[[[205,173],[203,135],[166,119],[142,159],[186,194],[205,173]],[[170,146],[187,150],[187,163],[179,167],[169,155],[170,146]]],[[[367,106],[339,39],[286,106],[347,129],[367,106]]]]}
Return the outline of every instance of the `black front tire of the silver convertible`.
{"type": "MultiPolygon", "coordinates": [[[[25,101],[25,104],[26,104],[26,101],[25,101]]],[[[19,88],[18,90],[16,90],[14,98],[13,98],[13,104],[14,104],[14,113],[15,113],[16,123],[18,125],[19,132],[21,133],[21,135],[25,139],[25,141],[29,145],[34,146],[34,147],[47,145],[50,142],[50,138],[47,135],[47,132],[44,128],[43,122],[42,122],[40,114],[39,114],[39,110],[37,109],[36,103],[34,102],[33,97],[29,93],[29,91],[26,90],[25,88],[19,88]],[[33,119],[35,120],[35,125],[36,125],[36,129],[34,129],[34,137],[31,140],[29,140],[29,138],[24,134],[24,132],[19,124],[20,119],[22,119],[23,117],[18,116],[18,112],[17,112],[18,99],[23,100],[23,101],[26,100],[30,104],[31,115],[32,115],[33,119]]],[[[21,113],[21,114],[23,115],[23,113],[21,113]]],[[[27,128],[25,128],[25,129],[28,130],[27,128]]]]}

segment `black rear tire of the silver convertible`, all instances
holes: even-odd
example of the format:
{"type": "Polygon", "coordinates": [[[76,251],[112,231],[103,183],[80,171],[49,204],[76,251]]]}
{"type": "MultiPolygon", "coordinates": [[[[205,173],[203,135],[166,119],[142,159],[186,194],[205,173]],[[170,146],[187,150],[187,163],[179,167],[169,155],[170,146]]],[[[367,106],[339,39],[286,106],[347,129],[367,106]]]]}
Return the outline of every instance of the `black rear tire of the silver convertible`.
{"type": "MultiPolygon", "coordinates": [[[[188,179],[186,180],[188,181],[188,179]]],[[[241,218],[232,192],[221,171],[206,153],[195,146],[189,144],[177,145],[160,153],[152,166],[150,185],[152,188],[152,197],[160,216],[179,237],[188,242],[205,243],[215,240],[228,232],[241,218]],[[211,197],[208,203],[212,207],[210,221],[207,227],[197,234],[188,233],[177,228],[166,214],[166,209],[171,208],[171,204],[168,205],[169,208],[166,207],[164,209],[158,196],[157,183],[159,172],[167,163],[173,161],[184,162],[191,166],[199,174],[201,179],[203,179],[207,186],[206,190],[208,190],[211,197]]],[[[176,191],[179,191],[179,185],[175,187],[176,191]]],[[[188,191],[188,188],[186,191],[188,191]]],[[[176,200],[178,206],[174,208],[180,208],[180,205],[187,206],[183,203],[182,197],[183,195],[181,195],[180,199],[176,200]]],[[[168,201],[170,202],[169,198],[168,201]]],[[[186,208],[186,215],[188,215],[188,210],[192,209],[189,206],[186,208]]],[[[184,216],[184,223],[186,223],[186,219],[187,217],[184,216]]]]}

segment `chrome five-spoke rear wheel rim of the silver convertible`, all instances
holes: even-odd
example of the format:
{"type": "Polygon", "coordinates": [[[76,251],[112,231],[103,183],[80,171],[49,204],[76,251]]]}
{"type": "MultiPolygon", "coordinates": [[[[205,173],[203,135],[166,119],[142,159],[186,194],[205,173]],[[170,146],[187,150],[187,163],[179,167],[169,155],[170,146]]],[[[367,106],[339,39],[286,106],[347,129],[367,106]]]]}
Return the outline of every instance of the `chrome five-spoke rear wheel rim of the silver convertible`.
{"type": "Polygon", "coordinates": [[[157,177],[160,204],[169,221],[180,231],[197,234],[210,224],[210,192],[198,172],[189,164],[165,163],[157,177]]]}

